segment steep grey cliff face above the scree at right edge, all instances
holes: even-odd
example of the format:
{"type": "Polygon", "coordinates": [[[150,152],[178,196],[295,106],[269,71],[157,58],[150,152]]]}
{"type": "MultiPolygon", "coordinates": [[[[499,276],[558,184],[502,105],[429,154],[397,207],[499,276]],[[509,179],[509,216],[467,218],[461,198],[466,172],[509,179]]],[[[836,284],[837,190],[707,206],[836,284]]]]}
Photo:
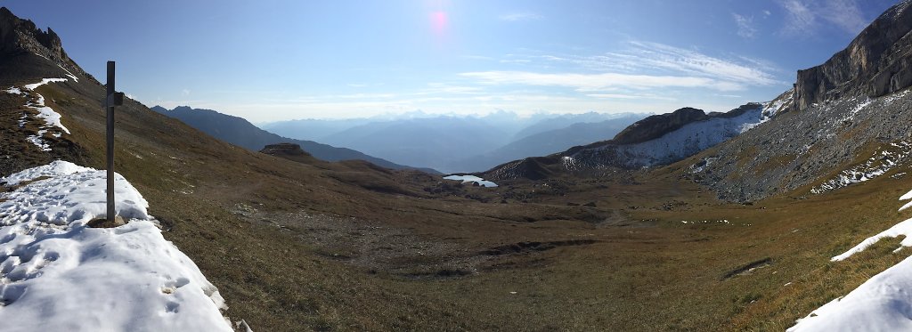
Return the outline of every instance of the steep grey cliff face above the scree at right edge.
{"type": "Polygon", "coordinates": [[[876,98],[912,85],[910,4],[888,9],[823,65],[799,70],[794,109],[860,94],[876,98]]]}

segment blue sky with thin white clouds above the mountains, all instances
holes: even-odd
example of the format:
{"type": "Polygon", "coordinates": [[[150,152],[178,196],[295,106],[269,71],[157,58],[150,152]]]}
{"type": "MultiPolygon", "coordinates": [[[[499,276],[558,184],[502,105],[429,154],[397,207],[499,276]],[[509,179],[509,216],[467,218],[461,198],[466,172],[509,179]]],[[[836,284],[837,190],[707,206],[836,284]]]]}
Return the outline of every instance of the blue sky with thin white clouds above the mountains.
{"type": "Polygon", "coordinates": [[[254,123],[726,111],[775,98],[895,0],[0,0],[147,106],[254,123]]]}

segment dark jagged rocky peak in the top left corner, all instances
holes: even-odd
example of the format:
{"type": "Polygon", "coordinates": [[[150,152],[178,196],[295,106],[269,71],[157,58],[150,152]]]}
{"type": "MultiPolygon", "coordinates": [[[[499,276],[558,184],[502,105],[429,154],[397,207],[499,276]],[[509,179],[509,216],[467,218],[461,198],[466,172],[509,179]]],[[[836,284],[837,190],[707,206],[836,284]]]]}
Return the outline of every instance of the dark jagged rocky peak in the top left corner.
{"type": "Polygon", "coordinates": [[[89,77],[63,49],[60,37],[54,30],[42,31],[35,23],[13,15],[6,7],[0,7],[0,55],[32,53],[53,61],[74,75],[89,77]]]}

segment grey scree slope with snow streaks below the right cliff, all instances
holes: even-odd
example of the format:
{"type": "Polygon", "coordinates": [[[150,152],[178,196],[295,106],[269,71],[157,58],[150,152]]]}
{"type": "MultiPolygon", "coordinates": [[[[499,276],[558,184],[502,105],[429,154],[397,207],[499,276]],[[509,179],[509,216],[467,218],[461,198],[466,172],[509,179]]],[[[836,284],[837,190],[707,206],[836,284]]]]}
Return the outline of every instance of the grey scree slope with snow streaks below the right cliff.
{"type": "Polygon", "coordinates": [[[836,99],[781,114],[720,144],[713,154],[701,155],[691,164],[689,176],[734,202],[803,187],[813,193],[809,184],[830,181],[834,174],[873,174],[865,179],[888,176],[891,169],[907,165],[901,153],[885,151],[912,142],[909,91],[877,99],[836,99]],[[878,162],[865,162],[871,160],[878,162]]]}

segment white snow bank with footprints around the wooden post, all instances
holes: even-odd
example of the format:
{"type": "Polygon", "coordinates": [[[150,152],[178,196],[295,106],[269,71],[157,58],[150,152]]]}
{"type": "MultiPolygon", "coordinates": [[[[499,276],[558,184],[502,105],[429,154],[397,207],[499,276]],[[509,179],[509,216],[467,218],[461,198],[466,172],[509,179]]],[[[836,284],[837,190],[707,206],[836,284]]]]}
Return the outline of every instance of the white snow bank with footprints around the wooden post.
{"type": "Polygon", "coordinates": [[[54,161],[0,183],[0,325],[4,331],[231,331],[222,296],[161,236],[148,202],[119,175],[119,215],[105,172],[54,161]]]}

